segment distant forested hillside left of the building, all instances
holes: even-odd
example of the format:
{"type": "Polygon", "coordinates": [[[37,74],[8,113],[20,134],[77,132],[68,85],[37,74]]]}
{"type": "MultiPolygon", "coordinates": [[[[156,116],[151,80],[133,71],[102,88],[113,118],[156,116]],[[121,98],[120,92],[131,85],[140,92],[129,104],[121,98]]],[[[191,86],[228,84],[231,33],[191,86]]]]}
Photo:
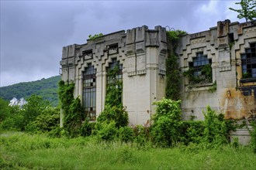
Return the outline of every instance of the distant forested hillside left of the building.
{"type": "Polygon", "coordinates": [[[0,87],[0,97],[4,100],[12,100],[30,97],[36,94],[43,97],[44,100],[50,100],[50,103],[57,106],[57,83],[61,76],[52,76],[48,79],[41,79],[26,83],[16,83],[7,87],[0,87]]]}

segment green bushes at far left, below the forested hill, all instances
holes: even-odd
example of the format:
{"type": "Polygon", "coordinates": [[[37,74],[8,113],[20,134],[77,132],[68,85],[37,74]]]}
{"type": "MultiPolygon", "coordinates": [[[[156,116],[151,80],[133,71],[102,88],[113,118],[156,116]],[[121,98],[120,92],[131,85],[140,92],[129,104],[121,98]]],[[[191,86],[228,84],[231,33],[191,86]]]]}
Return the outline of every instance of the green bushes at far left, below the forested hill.
{"type": "Polygon", "coordinates": [[[0,129],[43,133],[59,126],[60,115],[57,108],[51,107],[47,100],[32,95],[22,107],[9,106],[0,100],[0,129]]]}

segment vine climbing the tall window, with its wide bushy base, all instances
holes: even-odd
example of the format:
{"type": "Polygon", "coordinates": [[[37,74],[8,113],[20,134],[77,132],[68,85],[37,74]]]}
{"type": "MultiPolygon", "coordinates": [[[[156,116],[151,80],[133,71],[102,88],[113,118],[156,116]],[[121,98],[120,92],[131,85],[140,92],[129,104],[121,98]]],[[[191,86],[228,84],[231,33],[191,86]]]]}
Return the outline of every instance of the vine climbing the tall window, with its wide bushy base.
{"type": "Polygon", "coordinates": [[[131,138],[130,128],[125,128],[128,113],[123,107],[123,82],[119,80],[119,71],[119,64],[108,69],[105,109],[99,114],[95,124],[95,134],[103,141],[112,141],[118,137],[123,141],[130,141],[131,138]]]}

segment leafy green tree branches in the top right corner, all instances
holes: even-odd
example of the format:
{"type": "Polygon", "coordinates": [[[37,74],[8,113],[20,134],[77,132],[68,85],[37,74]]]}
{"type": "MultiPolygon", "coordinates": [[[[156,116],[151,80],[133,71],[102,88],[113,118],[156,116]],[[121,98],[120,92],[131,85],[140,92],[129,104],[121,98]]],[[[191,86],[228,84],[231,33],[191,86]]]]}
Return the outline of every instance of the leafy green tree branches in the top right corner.
{"type": "Polygon", "coordinates": [[[236,2],[235,4],[239,4],[241,6],[241,9],[234,9],[229,8],[230,10],[234,12],[238,12],[237,15],[238,19],[245,19],[246,22],[250,20],[251,22],[254,21],[256,18],[256,1],[255,0],[241,0],[240,2],[236,2]]]}

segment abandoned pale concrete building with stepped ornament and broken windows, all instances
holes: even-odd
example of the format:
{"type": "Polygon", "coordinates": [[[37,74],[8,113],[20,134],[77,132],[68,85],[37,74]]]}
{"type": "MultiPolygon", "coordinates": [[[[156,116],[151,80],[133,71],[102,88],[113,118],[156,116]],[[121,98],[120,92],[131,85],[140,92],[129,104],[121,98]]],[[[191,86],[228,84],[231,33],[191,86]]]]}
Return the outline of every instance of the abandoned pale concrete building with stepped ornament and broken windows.
{"type": "MultiPolygon", "coordinates": [[[[104,110],[107,70],[118,66],[123,106],[130,125],[145,124],[156,100],[165,97],[166,29],[141,26],[112,32],[85,44],[64,46],[62,80],[73,80],[85,115],[92,121],[104,110]]],[[[209,105],[226,118],[256,116],[256,26],[251,22],[217,22],[204,32],[182,36],[175,53],[181,69],[180,98],[185,120],[202,120],[209,105]],[[203,71],[208,65],[210,75],[203,71]],[[194,81],[185,72],[192,70],[194,81]]]]}

